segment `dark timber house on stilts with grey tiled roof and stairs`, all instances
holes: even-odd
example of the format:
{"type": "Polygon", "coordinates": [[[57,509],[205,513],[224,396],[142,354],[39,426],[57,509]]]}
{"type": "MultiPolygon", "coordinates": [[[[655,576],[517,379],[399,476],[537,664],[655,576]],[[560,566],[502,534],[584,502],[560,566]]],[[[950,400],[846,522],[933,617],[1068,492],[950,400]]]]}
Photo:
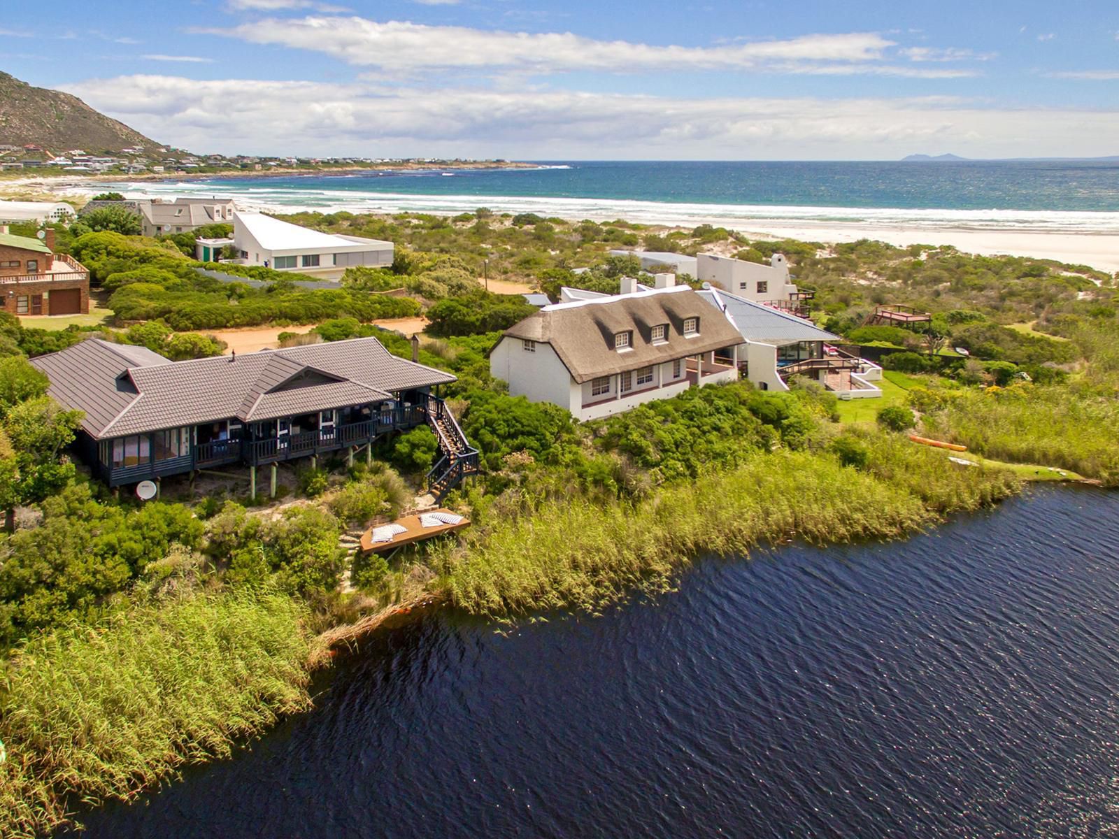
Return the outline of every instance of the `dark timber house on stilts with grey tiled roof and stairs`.
{"type": "Polygon", "coordinates": [[[111,487],[241,464],[255,494],[256,468],[271,465],[274,493],[280,462],[328,452],[352,462],[384,435],[424,424],[439,439],[436,494],[478,469],[438,396],[454,376],[375,338],[173,362],[90,339],[31,364],[55,400],[84,412],[78,453],[111,487]]]}

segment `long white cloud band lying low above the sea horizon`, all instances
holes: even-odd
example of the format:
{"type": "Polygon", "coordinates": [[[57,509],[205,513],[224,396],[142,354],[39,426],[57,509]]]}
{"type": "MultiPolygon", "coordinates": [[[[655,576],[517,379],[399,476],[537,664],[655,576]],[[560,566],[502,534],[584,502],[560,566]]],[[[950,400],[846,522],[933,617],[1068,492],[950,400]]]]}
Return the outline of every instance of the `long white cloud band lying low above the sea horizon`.
{"type": "Polygon", "coordinates": [[[401,89],[123,76],[67,85],[133,128],[198,151],[520,159],[894,159],[1101,154],[1119,112],[994,109],[955,97],[657,97],[401,89]],[[236,102],[237,107],[228,107],[236,102]]]}

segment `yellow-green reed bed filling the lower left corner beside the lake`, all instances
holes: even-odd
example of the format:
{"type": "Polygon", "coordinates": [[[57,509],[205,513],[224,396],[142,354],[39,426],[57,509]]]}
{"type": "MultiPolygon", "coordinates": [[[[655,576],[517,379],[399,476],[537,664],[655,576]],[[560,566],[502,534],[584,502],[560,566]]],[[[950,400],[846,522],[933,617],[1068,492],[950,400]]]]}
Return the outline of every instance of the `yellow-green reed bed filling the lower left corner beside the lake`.
{"type": "Polygon", "coordinates": [[[0,836],[129,801],[309,708],[305,616],[282,594],[195,595],[25,644],[0,695],[0,836]]]}

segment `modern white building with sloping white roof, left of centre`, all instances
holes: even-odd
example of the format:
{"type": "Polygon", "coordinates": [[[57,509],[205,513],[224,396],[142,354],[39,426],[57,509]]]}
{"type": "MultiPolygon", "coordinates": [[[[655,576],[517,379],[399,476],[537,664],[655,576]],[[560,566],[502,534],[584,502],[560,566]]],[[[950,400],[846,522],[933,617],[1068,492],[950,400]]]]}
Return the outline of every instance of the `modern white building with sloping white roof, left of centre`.
{"type": "Polygon", "coordinates": [[[263,265],[323,280],[337,280],[352,265],[393,264],[392,242],[321,233],[262,213],[234,213],[233,237],[200,238],[195,244],[195,256],[201,262],[216,262],[227,245],[237,251],[237,258],[229,262],[238,265],[263,265]]]}

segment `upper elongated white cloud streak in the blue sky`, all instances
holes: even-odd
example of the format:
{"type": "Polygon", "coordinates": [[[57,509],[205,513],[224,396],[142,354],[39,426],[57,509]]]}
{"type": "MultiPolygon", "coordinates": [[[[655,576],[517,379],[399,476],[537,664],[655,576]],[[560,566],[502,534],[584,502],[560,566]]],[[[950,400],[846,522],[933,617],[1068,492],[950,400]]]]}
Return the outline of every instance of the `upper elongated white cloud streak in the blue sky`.
{"type": "MultiPolygon", "coordinates": [[[[596,40],[573,32],[514,32],[359,17],[269,18],[226,29],[196,30],[323,53],[359,67],[393,75],[423,70],[516,70],[637,73],[648,70],[773,69],[807,72],[849,65],[868,70],[896,46],[877,32],[806,35],[784,40],[712,47],[656,46],[596,40]]],[[[895,69],[894,75],[942,78],[935,69],[895,69]]],[[[951,75],[958,75],[952,73],[951,75]]]]}

